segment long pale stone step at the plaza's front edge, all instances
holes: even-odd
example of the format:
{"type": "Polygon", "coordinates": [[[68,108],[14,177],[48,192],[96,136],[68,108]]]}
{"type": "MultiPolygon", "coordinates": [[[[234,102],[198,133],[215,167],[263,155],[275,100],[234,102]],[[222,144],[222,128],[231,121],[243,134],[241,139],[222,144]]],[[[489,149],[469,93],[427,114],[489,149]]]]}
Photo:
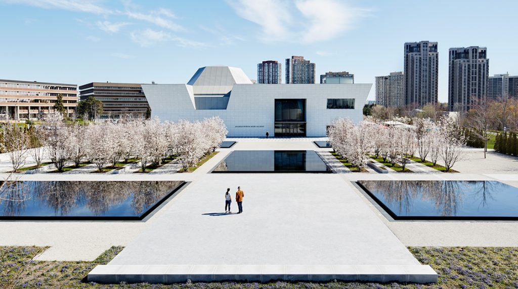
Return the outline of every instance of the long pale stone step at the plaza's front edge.
{"type": "Polygon", "coordinates": [[[366,281],[436,283],[429,265],[98,265],[88,282],[171,284],[192,282],[366,281]]]}

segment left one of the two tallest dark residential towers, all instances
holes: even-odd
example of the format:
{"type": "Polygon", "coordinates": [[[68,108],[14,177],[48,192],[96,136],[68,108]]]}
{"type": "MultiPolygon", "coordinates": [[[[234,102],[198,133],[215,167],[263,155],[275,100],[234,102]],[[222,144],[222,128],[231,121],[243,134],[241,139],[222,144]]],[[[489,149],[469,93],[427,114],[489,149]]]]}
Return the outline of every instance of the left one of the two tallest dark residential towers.
{"type": "Polygon", "coordinates": [[[422,107],[438,99],[437,42],[405,43],[405,105],[422,107]]]}

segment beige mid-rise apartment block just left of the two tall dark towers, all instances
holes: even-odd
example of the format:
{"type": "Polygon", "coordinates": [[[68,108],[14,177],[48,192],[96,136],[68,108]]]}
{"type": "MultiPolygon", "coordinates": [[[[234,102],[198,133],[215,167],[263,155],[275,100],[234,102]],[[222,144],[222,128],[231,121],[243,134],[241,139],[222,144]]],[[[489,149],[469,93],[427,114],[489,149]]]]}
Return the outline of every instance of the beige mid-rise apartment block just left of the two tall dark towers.
{"type": "Polygon", "coordinates": [[[405,74],[402,71],[376,76],[376,104],[385,107],[405,106],[405,74]]]}

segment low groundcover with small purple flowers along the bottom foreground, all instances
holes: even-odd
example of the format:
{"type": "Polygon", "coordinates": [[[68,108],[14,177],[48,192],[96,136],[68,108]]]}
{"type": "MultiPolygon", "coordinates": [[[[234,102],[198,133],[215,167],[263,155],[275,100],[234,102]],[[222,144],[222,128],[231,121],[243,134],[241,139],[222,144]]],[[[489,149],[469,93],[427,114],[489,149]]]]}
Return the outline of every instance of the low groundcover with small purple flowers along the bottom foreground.
{"type": "Polygon", "coordinates": [[[0,288],[516,288],[518,287],[518,248],[498,247],[409,247],[422,264],[439,274],[436,284],[359,283],[359,282],[275,282],[275,283],[193,283],[172,284],[95,284],[83,280],[96,265],[107,264],[123,248],[111,247],[92,262],[32,261],[43,247],[0,247],[0,288]]]}

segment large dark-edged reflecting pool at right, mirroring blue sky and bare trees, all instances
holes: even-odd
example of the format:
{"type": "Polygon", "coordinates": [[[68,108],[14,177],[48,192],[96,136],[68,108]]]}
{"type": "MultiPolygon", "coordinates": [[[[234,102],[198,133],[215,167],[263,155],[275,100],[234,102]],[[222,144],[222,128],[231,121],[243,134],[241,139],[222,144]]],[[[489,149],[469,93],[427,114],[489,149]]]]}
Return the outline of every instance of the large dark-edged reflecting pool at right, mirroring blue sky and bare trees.
{"type": "Polygon", "coordinates": [[[518,188],[497,181],[358,181],[394,219],[518,220],[518,188]]]}

